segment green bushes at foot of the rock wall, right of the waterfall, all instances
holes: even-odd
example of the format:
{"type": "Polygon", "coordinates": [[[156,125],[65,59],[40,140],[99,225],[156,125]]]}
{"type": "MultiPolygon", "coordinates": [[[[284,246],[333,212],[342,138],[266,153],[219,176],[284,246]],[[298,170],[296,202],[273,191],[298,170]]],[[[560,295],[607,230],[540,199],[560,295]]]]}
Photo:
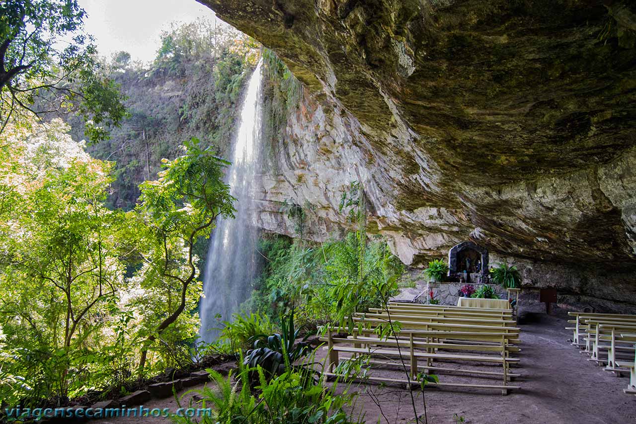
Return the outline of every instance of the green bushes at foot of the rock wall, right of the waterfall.
{"type": "Polygon", "coordinates": [[[265,269],[244,308],[272,319],[294,308],[298,320],[311,326],[336,322],[352,309],[379,307],[377,286],[388,282],[388,291],[394,292],[403,271],[382,239],[361,245],[354,232],[324,244],[270,236],[261,239],[259,251],[267,258],[265,269]],[[344,287],[355,293],[355,303],[343,299],[344,287]]]}

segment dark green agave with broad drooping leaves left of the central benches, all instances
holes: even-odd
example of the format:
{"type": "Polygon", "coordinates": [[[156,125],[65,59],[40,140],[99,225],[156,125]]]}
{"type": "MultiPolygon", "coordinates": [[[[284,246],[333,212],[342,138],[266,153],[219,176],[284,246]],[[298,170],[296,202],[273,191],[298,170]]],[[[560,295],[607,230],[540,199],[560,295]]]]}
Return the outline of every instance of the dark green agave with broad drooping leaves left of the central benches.
{"type": "Polygon", "coordinates": [[[294,327],[294,311],[280,317],[281,332],[267,336],[259,334],[254,339],[254,349],[247,351],[244,365],[255,368],[260,365],[270,376],[277,376],[292,367],[294,362],[309,355],[314,348],[307,343],[312,333],[296,342],[302,327],[294,327]]]}

